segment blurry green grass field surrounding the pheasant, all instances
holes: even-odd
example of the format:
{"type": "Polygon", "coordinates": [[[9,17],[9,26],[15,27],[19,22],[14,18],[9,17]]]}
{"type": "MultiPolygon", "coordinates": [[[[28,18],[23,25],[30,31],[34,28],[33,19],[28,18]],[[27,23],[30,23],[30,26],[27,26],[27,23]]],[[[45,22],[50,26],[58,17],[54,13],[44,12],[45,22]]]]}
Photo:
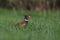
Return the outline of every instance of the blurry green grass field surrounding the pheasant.
{"type": "Polygon", "coordinates": [[[60,11],[22,11],[0,9],[0,40],[60,40],[60,11]],[[26,29],[15,29],[24,15],[30,15],[26,29]]]}

